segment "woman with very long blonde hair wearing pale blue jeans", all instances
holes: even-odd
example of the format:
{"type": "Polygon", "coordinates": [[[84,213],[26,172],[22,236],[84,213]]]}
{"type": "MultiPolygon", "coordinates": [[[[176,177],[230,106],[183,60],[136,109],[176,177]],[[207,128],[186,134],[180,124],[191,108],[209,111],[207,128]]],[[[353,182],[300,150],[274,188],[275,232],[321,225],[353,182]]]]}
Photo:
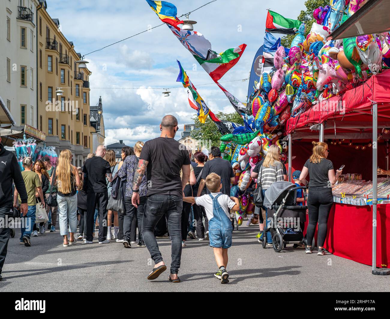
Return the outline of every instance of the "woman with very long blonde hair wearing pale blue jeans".
{"type": "MultiPolygon", "coordinates": [[[[73,245],[77,238],[74,233],[77,231],[77,187],[80,187],[80,176],[77,167],[73,166],[72,153],[69,150],[62,150],[58,157],[55,180],[57,184],[58,215],[60,220],[60,234],[64,236],[63,246],[73,245]],[[69,222],[69,229],[68,229],[69,222]],[[68,233],[70,238],[68,240],[68,233]]],[[[53,178],[52,176],[52,178],[53,178]]]]}

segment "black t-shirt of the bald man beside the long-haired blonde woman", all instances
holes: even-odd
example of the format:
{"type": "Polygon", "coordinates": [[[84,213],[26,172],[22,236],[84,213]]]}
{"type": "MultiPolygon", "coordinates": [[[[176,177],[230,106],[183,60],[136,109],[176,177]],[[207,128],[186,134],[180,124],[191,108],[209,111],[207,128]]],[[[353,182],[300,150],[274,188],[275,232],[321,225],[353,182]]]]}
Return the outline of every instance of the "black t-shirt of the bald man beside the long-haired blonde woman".
{"type": "Polygon", "coordinates": [[[83,173],[85,173],[83,188],[87,193],[107,192],[106,174],[111,173],[111,167],[103,157],[94,156],[87,159],[83,173]]]}

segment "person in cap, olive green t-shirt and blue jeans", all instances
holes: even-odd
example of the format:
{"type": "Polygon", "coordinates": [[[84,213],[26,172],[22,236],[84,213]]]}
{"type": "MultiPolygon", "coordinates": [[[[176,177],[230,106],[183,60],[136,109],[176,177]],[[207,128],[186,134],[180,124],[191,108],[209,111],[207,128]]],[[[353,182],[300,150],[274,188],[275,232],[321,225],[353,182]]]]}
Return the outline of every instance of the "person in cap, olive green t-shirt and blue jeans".
{"type": "MultiPolygon", "coordinates": [[[[22,177],[25,183],[26,191],[27,191],[27,205],[28,210],[26,213],[21,213],[21,217],[25,217],[24,224],[22,222],[21,225],[21,235],[20,235],[20,243],[24,243],[26,247],[31,246],[30,236],[32,232],[32,226],[35,223],[35,211],[36,211],[36,204],[37,200],[35,197],[35,192],[37,191],[39,194],[39,198],[41,199],[41,207],[44,207],[45,200],[43,198],[43,192],[42,192],[42,183],[39,179],[39,176],[37,173],[32,171],[32,159],[31,157],[25,157],[22,161],[24,171],[22,172],[22,177]]],[[[21,203],[21,197],[18,196],[18,189],[15,189],[14,192],[14,207],[18,207],[18,199],[21,203]]]]}

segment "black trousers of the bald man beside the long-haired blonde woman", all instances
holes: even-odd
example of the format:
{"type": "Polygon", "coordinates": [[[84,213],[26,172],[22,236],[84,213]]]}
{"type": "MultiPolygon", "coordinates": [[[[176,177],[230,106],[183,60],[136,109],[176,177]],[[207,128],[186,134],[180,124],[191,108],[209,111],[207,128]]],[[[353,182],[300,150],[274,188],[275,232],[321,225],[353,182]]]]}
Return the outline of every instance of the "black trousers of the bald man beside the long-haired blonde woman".
{"type": "Polygon", "coordinates": [[[99,212],[99,241],[105,241],[107,237],[107,204],[108,204],[108,192],[103,193],[87,193],[87,240],[92,241],[94,230],[94,215],[95,208],[99,212]]]}

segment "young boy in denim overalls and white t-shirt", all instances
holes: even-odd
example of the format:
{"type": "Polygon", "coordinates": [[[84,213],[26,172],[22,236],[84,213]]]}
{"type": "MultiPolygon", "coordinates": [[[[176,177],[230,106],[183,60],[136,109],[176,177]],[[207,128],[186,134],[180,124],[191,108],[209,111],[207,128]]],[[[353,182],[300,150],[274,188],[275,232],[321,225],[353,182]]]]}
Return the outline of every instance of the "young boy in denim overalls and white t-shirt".
{"type": "Polygon", "coordinates": [[[210,246],[213,247],[215,261],[219,270],[214,274],[221,279],[221,284],[229,282],[227,273],[227,249],[232,245],[232,223],[229,211],[238,211],[240,204],[238,198],[229,197],[220,192],[222,181],[220,176],[211,173],[206,177],[206,187],[211,194],[200,197],[183,197],[187,203],[203,206],[209,219],[210,246]]]}

